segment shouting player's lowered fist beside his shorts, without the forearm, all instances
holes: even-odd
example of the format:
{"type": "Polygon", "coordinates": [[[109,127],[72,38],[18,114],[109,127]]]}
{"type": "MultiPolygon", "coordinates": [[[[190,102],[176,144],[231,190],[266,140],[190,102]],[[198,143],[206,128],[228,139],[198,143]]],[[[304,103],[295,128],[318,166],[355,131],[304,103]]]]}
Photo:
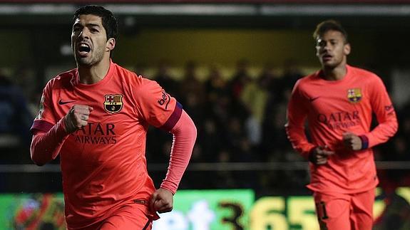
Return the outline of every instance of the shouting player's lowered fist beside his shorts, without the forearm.
{"type": "Polygon", "coordinates": [[[167,189],[157,189],[151,197],[150,209],[159,213],[173,210],[174,195],[167,189]]]}

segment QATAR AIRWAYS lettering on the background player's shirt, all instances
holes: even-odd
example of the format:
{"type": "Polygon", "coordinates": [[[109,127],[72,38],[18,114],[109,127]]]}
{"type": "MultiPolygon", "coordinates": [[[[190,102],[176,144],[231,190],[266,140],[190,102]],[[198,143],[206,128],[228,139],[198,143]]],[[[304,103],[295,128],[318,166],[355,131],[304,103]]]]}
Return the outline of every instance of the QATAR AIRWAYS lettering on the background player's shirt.
{"type": "Polygon", "coordinates": [[[353,127],[360,125],[360,115],[359,111],[340,111],[336,113],[322,114],[317,115],[317,121],[324,123],[328,127],[336,129],[345,129],[347,127],[353,127]]]}

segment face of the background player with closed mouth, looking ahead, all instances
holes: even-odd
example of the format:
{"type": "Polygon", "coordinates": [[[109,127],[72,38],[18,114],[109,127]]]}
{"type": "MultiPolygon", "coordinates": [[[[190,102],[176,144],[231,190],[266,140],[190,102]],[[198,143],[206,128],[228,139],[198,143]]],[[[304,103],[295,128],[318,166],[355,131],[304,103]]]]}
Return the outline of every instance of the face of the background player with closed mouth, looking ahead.
{"type": "Polygon", "coordinates": [[[339,31],[329,30],[317,37],[316,56],[322,68],[333,69],[347,63],[350,45],[339,31]]]}

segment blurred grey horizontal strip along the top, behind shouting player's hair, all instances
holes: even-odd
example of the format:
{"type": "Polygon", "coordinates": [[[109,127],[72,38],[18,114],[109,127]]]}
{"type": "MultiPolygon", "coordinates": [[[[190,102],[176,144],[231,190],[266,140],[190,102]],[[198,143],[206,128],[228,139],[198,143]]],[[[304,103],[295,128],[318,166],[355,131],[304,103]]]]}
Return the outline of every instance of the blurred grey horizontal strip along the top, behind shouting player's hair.
{"type": "MultiPolygon", "coordinates": [[[[409,16],[410,4],[106,4],[115,14],[195,16],[409,16]]],[[[73,14],[75,4],[0,4],[0,14],[73,14]]]]}

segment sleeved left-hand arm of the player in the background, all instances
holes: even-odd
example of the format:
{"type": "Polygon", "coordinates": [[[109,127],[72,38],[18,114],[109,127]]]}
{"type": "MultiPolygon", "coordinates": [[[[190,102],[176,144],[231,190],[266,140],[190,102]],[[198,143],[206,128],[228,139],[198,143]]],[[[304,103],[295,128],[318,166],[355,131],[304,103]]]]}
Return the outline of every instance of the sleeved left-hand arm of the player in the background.
{"type": "Polygon", "coordinates": [[[287,138],[292,144],[294,150],[300,152],[300,154],[306,159],[309,158],[309,153],[316,147],[307,140],[305,134],[305,120],[307,117],[307,108],[304,103],[307,103],[300,91],[299,82],[294,85],[292,95],[289,99],[287,106],[287,123],[285,129],[287,132],[287,138]]]}

